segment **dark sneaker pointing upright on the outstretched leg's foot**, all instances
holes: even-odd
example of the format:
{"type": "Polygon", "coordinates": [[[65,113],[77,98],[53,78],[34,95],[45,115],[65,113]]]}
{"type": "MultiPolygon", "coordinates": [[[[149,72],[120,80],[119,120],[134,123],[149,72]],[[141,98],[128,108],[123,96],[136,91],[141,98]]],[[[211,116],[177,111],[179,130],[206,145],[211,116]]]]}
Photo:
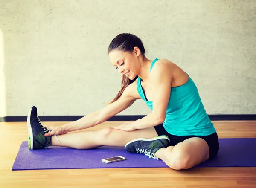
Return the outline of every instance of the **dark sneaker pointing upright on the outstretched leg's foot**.
{"type": "Polygon", "coordinates": [[[45,137],[44,134],[48,133],[50,130],[41,124],[35,106],[29,109],[27,125],[29,129],[29,150],[48,148],[52,137],[45,137]]]}

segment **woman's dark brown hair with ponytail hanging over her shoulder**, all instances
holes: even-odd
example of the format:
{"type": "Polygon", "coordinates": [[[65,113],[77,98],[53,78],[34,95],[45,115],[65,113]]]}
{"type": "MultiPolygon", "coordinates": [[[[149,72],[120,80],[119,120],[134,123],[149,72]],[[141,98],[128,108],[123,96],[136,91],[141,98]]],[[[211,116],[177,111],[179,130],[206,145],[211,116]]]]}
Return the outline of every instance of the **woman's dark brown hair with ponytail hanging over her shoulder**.
{"type": "MultiPolygon", "coordinates": [[[[114,49],[121,50],[122,52],[133,52],[134,47],[138,47],[143,57],[145,56],[145,48],[140,38],[133,34],[122,33],[117,35],[116,38],[111,41],[110,45],[108,46],[108,53],[110,53],[114,49]]],[[[122,75],[121,89],[116,97],[109,104],[119,99],[125,88],[133,83],[137,78],[138,75],[136,75],[133,80],[130,80],[127,76],[122,75]]]]}

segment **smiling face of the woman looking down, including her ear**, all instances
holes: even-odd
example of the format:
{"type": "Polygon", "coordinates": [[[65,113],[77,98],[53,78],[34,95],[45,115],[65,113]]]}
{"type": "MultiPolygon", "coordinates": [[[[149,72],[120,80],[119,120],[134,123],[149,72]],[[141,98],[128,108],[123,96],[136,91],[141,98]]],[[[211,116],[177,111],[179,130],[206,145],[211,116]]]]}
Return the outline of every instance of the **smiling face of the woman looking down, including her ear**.
{"type": "Polygon", "coordinates": [[[109,52],[109,58],[115,67],[114,69],[127,76],[130,80],[136,77],[140,69],[140,63],[137,58],[139,55],[140,50],[137,47],[134,48],[133,52],[122,52],[120,50],[109,52]]]}

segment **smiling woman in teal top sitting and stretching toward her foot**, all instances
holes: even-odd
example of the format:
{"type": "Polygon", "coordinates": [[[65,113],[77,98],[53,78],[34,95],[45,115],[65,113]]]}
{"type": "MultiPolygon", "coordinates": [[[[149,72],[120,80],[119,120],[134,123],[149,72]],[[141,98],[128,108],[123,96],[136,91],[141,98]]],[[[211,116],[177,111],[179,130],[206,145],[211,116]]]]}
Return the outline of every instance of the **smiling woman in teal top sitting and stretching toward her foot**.
{"type": "Polygon", "coordinates": [[[218,135],[197,87],[186,72],[166,59],[146,58],[142,41],[131,34],[116,36],[108,54],[122,74],[118,95],[103,109],[48,130],[41,125],[37,109],[32,106],[28,115],[29,149],[120,146],[131,153],[162,159],[176,170],[191,168],[217,155],[218,135]],[[115,128],[68,133],[107,121],[140,98],[152,110],[142,119],[115,128]],[[58,139],[52,139],[56,135],[58,139]]]}

